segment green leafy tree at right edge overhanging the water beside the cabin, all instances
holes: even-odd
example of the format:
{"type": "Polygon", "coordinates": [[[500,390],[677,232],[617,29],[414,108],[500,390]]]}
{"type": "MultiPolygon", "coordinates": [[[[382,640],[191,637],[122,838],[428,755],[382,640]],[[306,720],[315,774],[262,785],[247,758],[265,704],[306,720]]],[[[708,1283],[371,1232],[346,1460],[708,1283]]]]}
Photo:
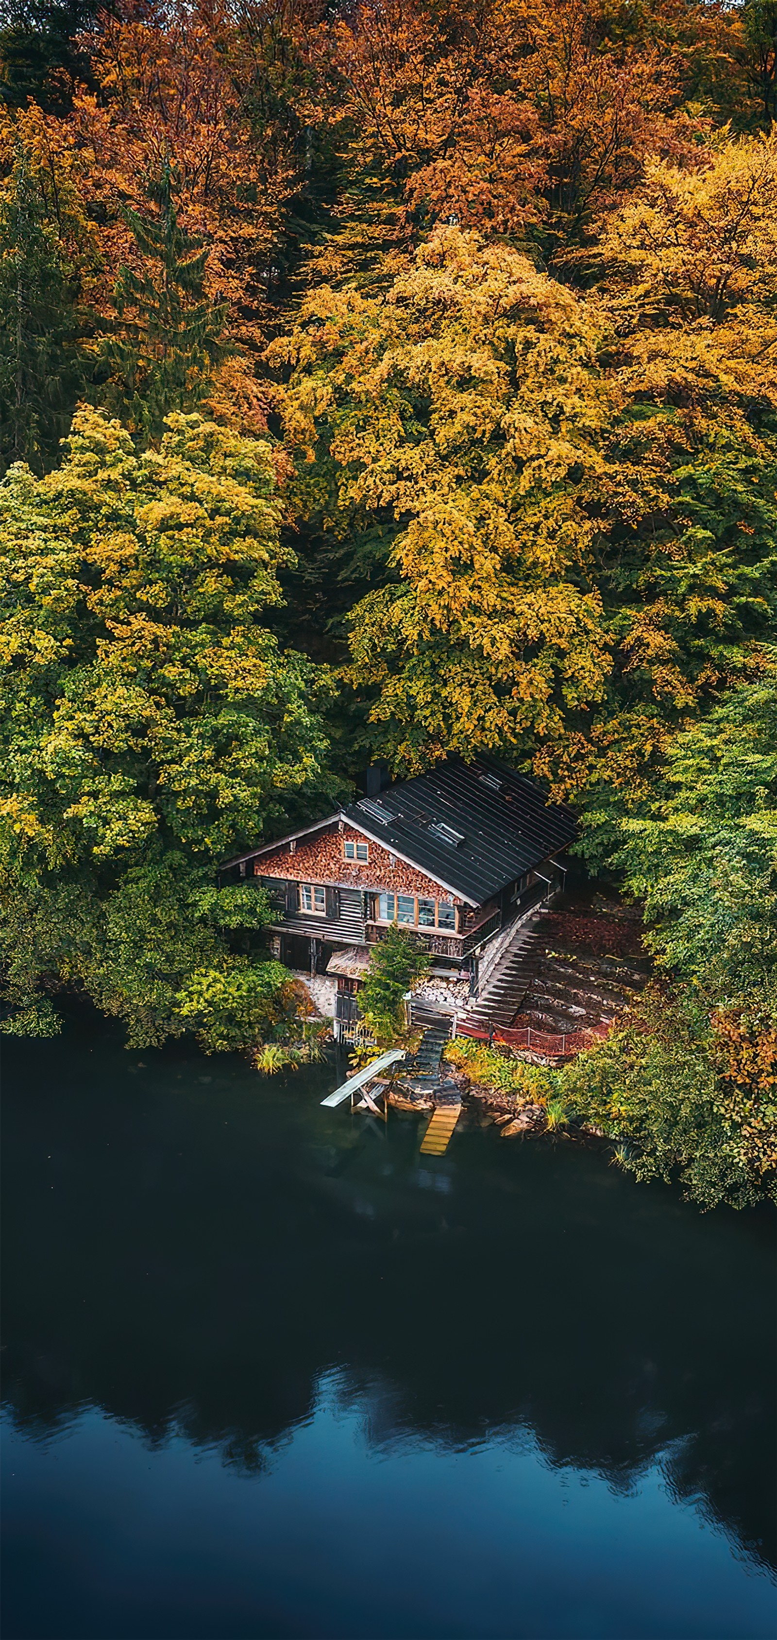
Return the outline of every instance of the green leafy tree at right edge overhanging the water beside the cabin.
{"type": "Polygon", "coordinates": [[[652,792],[588,813],[667,976],[562,1074],[638,1178],[711,1207],[775,1189],[777,684],[736,689],[666,748],[652,792]]]}

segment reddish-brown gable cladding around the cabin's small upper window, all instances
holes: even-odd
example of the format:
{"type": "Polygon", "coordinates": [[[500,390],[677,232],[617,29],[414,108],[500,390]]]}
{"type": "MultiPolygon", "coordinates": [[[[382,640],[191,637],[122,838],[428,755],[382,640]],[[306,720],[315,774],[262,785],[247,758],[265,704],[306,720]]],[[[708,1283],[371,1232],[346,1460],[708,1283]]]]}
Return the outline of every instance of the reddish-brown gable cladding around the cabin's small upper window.
{"type": "Polygon", "coordinates": [[[429,900],[449,900],[461,905],[456,894],[449,894],[439,882],[433,882],[415,866],[405,866],[403,859],[393,856],[380,843],[362,836],[346,827],[344,831],[318,831],[311,838],[300,836],[293,854],[289,843],[274,854],[262,854],[256,861],[256,871],[262,877],[289,877],[293,882],[326,882],[341,889],[370,889],[379,892],[388,889],[393,894],[420,894],[429,900]],[[356,859],[343,858],[343,843],[369,843],[369,861],[362,864],[356,859]]]}

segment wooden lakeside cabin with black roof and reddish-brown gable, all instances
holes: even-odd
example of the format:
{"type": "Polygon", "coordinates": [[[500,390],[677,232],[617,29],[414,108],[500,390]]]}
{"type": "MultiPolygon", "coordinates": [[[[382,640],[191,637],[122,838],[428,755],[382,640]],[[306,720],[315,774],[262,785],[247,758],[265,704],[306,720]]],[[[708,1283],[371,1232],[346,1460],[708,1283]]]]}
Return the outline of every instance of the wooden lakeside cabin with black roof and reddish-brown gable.
{"type": "Polygon", "coordinates": [[[561,887],[562,853],[577,835],[572,813],[490,758],[374,786],[229,861],[221,877],[267,889],[280,913],[275,953],[293,969],[334,976],[338,995],[357,992],[370,945],[393,922],[429,948],[438,973],[467,974],[477,995],[488,943],[561,887]]]}

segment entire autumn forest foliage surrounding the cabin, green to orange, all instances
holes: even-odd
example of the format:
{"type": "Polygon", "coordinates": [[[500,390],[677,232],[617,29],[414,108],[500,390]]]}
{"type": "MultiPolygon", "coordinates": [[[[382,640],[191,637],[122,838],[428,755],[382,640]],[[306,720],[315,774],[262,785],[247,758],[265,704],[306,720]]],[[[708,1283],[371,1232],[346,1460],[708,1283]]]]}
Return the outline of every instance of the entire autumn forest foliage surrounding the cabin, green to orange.
{"type": "Polygon", "coordinates": [[[264,897],[216,866],[366,756],[493,748],[646,909],[659,989],[566,1073],[577,1105],[643,1176],[757,1192],[775,20],[13,0],[7,1028],[70,984],[136,1041],[302,1053],[264,897]]]}

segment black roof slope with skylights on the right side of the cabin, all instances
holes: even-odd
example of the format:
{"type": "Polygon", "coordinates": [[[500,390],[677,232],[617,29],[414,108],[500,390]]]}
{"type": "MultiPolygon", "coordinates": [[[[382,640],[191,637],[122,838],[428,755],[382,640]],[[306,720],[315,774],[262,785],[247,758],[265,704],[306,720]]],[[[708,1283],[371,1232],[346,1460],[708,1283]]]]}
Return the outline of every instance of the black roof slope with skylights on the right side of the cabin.
{"type": "Polygon", "coordinates": [[[349,804],[343,817],[472,905],[577,836],[569,809],[549,807],[534,781],[492,758],[451,758],[349,804]]]}

